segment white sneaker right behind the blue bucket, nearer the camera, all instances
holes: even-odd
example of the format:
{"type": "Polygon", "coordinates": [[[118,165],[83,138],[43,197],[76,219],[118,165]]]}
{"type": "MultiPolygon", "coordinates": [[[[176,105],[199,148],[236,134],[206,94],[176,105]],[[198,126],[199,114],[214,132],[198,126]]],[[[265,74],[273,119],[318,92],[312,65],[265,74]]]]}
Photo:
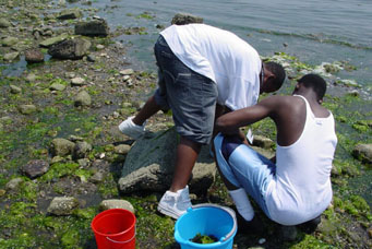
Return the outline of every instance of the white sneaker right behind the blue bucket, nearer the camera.
{"type": "Polygon", "coordinates": [[[157,210],[161,214],[168,215],[175,220],[185,213],[189,208],[191,208],[191,201],[188,186],[177,192],[167,191],[157,205],[157,210]]]}

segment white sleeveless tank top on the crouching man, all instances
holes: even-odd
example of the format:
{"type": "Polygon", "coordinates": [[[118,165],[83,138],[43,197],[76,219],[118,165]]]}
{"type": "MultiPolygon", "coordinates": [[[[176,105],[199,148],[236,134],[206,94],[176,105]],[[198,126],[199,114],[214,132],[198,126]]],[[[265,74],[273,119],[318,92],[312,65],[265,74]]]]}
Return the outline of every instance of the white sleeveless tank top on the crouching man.
{"type": "Polygon", "coordinates": [[[277,144],[276,176],[266,190],[271,217],[297,225],[319,216],[331,203],[331,169],[337,137],[332,112],[316,118],[308,100],[307,120],[300,138],[289,146],[277,144]]]}

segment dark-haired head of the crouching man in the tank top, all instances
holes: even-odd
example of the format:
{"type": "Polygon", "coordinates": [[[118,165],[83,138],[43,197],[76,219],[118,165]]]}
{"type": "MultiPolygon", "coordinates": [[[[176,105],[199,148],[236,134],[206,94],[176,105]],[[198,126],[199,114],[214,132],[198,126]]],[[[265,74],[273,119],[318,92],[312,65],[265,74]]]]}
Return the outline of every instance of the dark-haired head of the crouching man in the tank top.
{"type": "Polygon", "coordinates": [[[323,78],[314,73],[309,73],[298,81],[293,94],[301,94],[304,91],[312,90],[315,94],[316,100],[322,103],[326,88],[327,84],[323,78]]]}

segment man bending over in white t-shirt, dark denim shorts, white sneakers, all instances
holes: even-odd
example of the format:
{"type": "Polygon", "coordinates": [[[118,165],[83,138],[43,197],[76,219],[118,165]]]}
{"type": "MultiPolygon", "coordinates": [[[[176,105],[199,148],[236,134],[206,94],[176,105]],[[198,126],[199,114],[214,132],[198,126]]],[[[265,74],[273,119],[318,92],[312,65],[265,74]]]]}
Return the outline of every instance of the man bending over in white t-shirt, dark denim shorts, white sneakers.
{"type": "Polygon", "coordinates": [[[263,63],[256,50],[235,34],[205,24],[166,28],[154,50],[159,87],[119,129],[136,139],[152,115],[172,110],[180,143],[172,183],[158,211],[178,218],[191,206],[188,181],[201,145],[211,142],[215,117],[252,106],[261,93],[277,91],[285,71],[278,63],[263,63]]]}

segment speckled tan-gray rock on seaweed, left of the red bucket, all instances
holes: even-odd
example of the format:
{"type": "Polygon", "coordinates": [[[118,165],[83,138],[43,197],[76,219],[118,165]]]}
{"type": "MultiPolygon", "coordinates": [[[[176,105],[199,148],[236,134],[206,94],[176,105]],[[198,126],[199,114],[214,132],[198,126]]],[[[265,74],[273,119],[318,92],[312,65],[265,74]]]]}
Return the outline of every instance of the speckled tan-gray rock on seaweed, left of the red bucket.
{"type": "Polygon", "coordinates": [[[76,198],[57,197],[50,202],[47,212],[58,216],[70,215],[77,206],[76,198]]]}

